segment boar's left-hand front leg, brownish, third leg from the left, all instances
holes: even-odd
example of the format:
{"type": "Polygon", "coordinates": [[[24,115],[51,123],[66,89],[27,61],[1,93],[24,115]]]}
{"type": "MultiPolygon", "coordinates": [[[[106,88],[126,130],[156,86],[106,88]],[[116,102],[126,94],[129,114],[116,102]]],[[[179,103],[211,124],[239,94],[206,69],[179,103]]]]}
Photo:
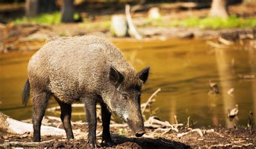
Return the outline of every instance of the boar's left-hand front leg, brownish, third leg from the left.
{"type": "Polygon", "coordinates": [[[90,147],[97,147],[97,141],[96,141],[96,127],[97,127],[96,100],[95,100],[95,98],[86,98],[86,99],[83,99],[82,101],[85,103],[87,123],[88,123],[88,126],[89,126],[89,134],[88,134],[87,144],[90,144],[90,147]]]}

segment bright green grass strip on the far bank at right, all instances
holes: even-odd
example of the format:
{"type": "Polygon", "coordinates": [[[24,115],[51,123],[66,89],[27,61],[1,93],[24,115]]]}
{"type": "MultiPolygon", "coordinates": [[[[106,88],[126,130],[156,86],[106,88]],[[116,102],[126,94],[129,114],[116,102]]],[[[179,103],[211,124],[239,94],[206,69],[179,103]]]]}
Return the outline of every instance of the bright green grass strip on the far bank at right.
{"type": "Polygon", "coordinates": [[[230,16],[227,19],[219,17],[205,17],[205,18],[186,18],[183,20],[175,19],[170,23],[165,22],[153,22],[154,26],[184,26],[184,27],[200,27],[202,29],[221,29],[221,28],[233,28],[233,27],[254,27],[256,26],[256,17],[252,18],[240,18],[237,16],[230,16]]]}

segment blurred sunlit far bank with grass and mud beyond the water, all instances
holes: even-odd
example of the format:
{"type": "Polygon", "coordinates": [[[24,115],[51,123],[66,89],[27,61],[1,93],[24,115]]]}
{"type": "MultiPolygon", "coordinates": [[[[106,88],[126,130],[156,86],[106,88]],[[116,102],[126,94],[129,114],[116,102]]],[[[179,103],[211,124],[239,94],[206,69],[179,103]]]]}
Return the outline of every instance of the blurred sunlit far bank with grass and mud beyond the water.
{"type": "MultiPolygon", "coordinates": [[[[136,11],[132,15],[133,24],[143,37],[143,40],[166,40],[168,38],[213,39],[224,37],[227,40],[238,41],[240,39],[253,40],[255,38],[253,33],[256,31],[253,30],[256,30],[256,28],[252,27],[256,26],[256,6],[254,5],[231,5],[229,7],[230,13],[237,17],[231,17],[227,22],[219,19],[207,19],[209,8],[184,10],[182,8],[173,8],[171,4],[154,4],[152,6],[159,6],[160,19],[149,19],[147,17],[149,8],[146,6],[145,9],[136,11]],[[251,19],[247,20],[248,18],[251,19]],[[249,27],[244,25],[247,21],[249,27]],[[197,25],[198,22],[202,24],[200,25],[199,23],[197,25]],[[217,26],[211,26],[214,24],[217,26]],[[207,25],[210,26],[207,27],[207,25]]],[[[83,22],[80,23],[51,24],[52,22],[50,21],[49,24],[49,20],[56,20],[51,15],[38,17],[39,20],[38,18],[21,18],[9,20],[7,23],[0,23],[0,52],[39,49],[45,43],[45,40],[54,36],[72,37],[93,34],[109,39],[134,40],[133,36],[115,37],[110,31],[111,16],[113,14],[124,14],[124,10],[106,11],[112,13],[103,13],[104,9],[100,12],[92,11],[90,14],[80,12],[80,16],[83,17],[83,22]],[[44,20],[48,21],[48,23],[44,23],[44,20]]],[[[58,15],[59,12],[57,19],[59,19],[58,15]]]]}

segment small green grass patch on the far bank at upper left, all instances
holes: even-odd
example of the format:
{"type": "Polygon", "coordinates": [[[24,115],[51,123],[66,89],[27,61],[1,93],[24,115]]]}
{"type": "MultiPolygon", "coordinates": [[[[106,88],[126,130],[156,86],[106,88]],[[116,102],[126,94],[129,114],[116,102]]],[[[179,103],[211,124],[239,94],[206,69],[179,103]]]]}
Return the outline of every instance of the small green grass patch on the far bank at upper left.
{"type": "Polygon", "coordinates": [[[23,17],[12,20],[15,24],[26,24],[26,23],[35,23],[35,24],[59,24],[60,23],[60,12],[54,13],[43,13],[37,17],[23,17]]]}

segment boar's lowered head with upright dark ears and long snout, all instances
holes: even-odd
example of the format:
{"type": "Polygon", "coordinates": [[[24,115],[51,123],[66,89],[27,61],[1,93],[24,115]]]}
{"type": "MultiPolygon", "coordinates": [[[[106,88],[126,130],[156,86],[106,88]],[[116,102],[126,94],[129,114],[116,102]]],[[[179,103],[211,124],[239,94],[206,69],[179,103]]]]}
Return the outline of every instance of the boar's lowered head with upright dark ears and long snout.
{"type": "Polygon", "coordinates": [[[141,137],[145,133],[140,111],[140,95],[142,86],[149,76],[149,69],[150,67],[146,67],[139,73],[131,71],[122,74],[114,67],[110,68],[112,98],[107,105],[130,126],[136,137],[141,137]]]}

